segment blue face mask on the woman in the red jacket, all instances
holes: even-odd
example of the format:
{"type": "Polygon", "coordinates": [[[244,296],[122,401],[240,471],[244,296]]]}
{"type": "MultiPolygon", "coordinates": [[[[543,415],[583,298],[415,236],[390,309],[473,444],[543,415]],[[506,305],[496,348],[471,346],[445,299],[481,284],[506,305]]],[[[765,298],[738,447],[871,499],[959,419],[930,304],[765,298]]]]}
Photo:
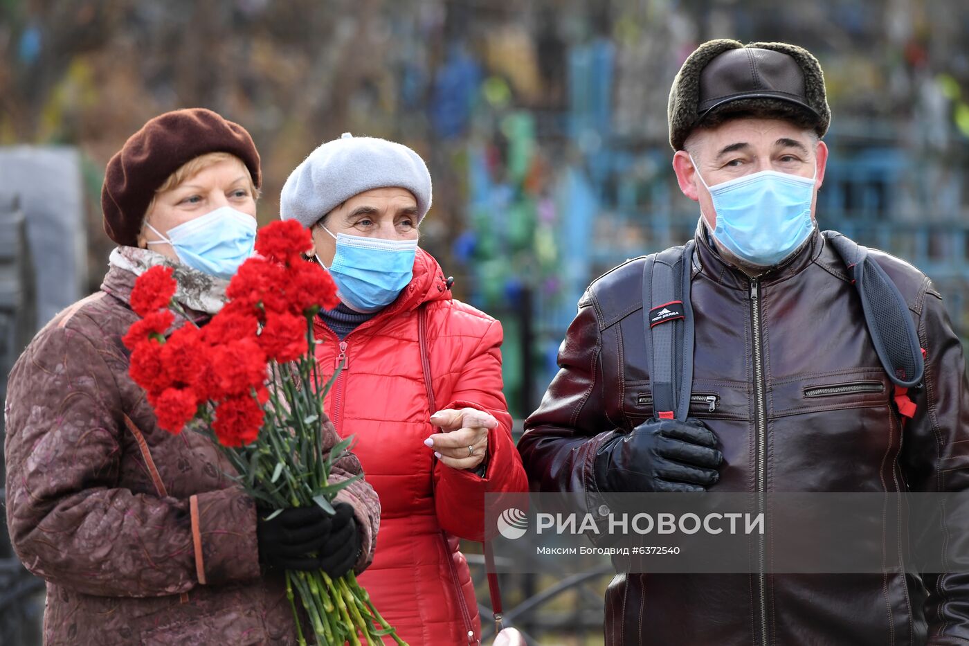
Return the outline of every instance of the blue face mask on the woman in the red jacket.
{"type": "Polygon", "coordinates": [[[316,260],[333,278],[337,295],[347,307],[364,313],[383,309],[414,277],[417,240],[391,241],[344,233],[333,236],[327,227],[323,230],[336,240],[336,254],[329,267],[316,260]]]}

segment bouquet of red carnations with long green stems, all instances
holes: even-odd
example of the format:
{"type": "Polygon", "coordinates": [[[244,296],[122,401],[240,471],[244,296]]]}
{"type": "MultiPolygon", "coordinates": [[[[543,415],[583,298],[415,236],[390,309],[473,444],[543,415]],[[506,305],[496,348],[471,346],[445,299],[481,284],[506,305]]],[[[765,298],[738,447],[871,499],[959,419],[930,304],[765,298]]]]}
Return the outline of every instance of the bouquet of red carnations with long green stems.
{"type": "MultiPolygon", "coordinates": [[[[234,479],[263,508],[316,504],[334,513],[338,491],[360,476],[329,483],[333,463],[352,438],[323,455],[323,400],[336,373],[314,359],[313,317],[335,307],[336,286],[316,263],[300,258],[312,246],[296,221],[274,222],[256,240],[226,291],[228,303],[203,327],[186,324],[168,338],[175,312],[172,269],[139,276],[131,306],[141,316],[125,335],[130,374],[147,393],[160,427],[191,428],[210,437],[235,468],[234,479]],[[326,380],[325,380],[326,379],[326,380]]],[[[323,570],[287,570],[286,591],[300,644],[299,597],[320,644],[404,642],[381,617],[353,571],[332,579],[323,570]]]]}

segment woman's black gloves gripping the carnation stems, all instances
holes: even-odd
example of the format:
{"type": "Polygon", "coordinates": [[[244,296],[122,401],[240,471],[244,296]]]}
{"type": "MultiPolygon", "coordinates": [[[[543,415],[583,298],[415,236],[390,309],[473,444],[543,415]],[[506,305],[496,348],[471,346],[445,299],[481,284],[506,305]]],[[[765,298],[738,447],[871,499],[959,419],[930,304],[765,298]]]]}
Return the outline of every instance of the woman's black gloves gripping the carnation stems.
{"type": "Polygon", "coordinates": [[[315,504],[290,507],[271,520],[259,513],[259,558],[271,567],[322,569],[334,578],[343,576],[359,558],[360,533],[352,506],[337,502],[333,509],[336,513],[329,515],[315,504]]]}

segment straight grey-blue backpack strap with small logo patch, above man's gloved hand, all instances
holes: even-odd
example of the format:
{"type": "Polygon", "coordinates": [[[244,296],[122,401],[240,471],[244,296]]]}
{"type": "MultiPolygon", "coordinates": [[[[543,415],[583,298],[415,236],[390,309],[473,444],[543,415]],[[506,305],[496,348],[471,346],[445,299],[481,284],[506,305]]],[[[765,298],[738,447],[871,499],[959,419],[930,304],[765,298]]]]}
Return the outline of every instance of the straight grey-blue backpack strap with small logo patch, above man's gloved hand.
{"type": "Polygon", "coordinates": [[[647,256],[642,267],[646,364],[655,419],[686,419],[693,387],[694,242],[647,256]]]}

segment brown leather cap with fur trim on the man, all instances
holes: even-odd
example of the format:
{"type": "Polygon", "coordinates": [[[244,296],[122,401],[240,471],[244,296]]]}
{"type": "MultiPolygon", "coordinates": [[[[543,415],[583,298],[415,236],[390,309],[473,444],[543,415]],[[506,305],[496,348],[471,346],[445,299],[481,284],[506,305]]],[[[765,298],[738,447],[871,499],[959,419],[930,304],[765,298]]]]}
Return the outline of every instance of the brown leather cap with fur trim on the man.
{"type": "Polygon", "coordinates": [[[670,145],[681,150],[696,127],[735,113],[780,116],[823,137],[831,111],[818,59],[787,43],[703,43],[672,81],[670,145]]]}

